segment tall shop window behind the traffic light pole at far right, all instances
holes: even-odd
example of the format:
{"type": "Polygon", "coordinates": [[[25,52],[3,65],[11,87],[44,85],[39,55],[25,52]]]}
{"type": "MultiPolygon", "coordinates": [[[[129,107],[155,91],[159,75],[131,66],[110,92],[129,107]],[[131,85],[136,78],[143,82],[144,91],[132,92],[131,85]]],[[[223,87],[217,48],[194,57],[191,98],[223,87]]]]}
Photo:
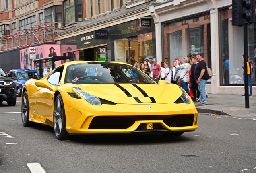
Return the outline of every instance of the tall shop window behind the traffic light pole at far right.
{"type": "MultiPolygon", "coordinates": [[[[244,54],[244,28],[232,26],[229,21],[231,10],[220,10],[219,20],[219,62],[220,62],[220,83],[221,84],[244,84],[242,55],[244,54]]],[[[248,25],[248,62],[254,64],[256,59],[256,26],[248,25]]],[[[255,84],[255,75],[251,79],[255,84]]]]}

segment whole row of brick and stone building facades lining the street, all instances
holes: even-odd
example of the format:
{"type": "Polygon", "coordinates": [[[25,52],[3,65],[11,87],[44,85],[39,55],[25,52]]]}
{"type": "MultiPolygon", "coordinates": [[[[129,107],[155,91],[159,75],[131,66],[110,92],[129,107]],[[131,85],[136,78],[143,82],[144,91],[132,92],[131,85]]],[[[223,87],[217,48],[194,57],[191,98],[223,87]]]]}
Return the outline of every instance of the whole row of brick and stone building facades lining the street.
{"type": "MultiPolygon", "coordinates": [[[[16,51],[21,67],[33,66],[37,54],[47,57],[51,47],[58,56],[74,60],[132,63],[156,58],[170,66],[175,58],[200,53],[214,74],[206,85],[208,93],[243,94],[243,27],[229,21],[231,4],[231,0],[1,0],[0,64],[8,64],[5,58],[16,51]],[[27,44],[37,50],[29,60],[24,58],[27,44]]],[[[248,25],[254,95],[255,35],[255,24],[248,25]]]]}

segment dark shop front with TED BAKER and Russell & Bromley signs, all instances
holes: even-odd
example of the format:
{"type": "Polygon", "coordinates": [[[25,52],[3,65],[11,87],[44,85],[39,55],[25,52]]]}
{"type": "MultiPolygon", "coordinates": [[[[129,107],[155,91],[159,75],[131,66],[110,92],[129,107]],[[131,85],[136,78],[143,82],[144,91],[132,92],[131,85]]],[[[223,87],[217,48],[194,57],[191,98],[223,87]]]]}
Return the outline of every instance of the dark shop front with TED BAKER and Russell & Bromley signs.
{"type": "Polygon", "coordinates": [[[155,25],[141,27],[142,19],[136,19],[100,30],[94,30],[60,40],[60,44],[76,45],[76,50],[64,50],[68,54],[79,54],[79,60],[117,61],[132,63],[152,60],[155,54],[155,25]],[[78,53],[77,53],[78,52],[78,53]]]}

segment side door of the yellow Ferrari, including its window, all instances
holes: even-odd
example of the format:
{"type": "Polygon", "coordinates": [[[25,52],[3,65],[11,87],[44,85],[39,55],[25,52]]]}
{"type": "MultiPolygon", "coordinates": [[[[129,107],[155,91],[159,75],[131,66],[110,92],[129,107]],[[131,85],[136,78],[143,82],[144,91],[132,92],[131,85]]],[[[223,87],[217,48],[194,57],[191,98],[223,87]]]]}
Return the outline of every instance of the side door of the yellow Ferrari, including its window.
{"type": "MultiPolygon", "coordinates": [[[[60,66],[59,68],[54,69],[47,77],[48,84],[50,84],[52,88],[56,89],[60,86],[63,69],[64,66],[60,66]]],[[[35,99],[38,114],[50,121],[52,121],[53,116],[53,95],[55,89],[51,91],[44,87],[38,87],[36,93],[37,99],[35,99]]]]}

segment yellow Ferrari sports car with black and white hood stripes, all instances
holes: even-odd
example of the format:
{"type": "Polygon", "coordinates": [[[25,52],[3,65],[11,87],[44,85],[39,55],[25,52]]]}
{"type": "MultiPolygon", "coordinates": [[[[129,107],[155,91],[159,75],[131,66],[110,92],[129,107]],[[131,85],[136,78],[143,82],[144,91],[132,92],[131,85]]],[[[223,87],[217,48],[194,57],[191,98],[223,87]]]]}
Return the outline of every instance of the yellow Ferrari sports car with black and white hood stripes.
{"type": "Polygon", "coordinates": [[[57,139],[72,134],[164,133],[198,128],[198,112],[178,85],[156,84],[121,62],[66,62],[22,90],[25,127],[54,127],[57,139]]]}

